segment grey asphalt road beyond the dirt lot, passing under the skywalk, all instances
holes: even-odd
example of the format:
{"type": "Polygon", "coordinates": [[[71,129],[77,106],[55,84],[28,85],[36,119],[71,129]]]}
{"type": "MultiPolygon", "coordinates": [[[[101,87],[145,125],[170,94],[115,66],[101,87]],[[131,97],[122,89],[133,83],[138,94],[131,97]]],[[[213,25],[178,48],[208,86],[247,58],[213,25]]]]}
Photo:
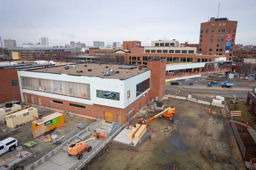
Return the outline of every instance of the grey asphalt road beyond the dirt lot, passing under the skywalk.
{"type": "MultiPolygon", "coordinates": [[[[215,85],[212,87],[208,87],[208,83],[210,81],[218,81],[218,80],[208,80],[207,78],[192,78],[181,80],[179,82],[179,86],[170,85],[169,82],[165,83],[166,93],[174,93],[175,91],[182,90],[182,92],[197,92],[202,94],[214,94],[214,95],[222,95],[222,96],[230,96],[233,97],[233,94],[237,96],[237,98],[247,98],[248,91],[252,91],[252,86],[256,85],[255,83],[249,83],[247,81],[233,81],[232,79],[227,80],[228,82],[234,82],[234,86],[229,88],[222,88],[221,85],[215,85]],[[193,82],[194,85],[189,86],[188,83],[193,82]]],[[[225,82],[224,80],[220,80],[220,82],[225,82]]]]}

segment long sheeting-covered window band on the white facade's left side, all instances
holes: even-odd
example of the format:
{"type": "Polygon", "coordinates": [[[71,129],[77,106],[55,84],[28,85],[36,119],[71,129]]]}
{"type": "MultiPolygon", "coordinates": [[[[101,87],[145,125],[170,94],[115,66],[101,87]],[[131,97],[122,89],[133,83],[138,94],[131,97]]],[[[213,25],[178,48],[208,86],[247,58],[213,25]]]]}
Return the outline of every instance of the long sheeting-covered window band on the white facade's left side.
{"type": "Polygon", "coordinates": [[[24,89],[91,99],[90,84],[21,77],[24,89]]]}

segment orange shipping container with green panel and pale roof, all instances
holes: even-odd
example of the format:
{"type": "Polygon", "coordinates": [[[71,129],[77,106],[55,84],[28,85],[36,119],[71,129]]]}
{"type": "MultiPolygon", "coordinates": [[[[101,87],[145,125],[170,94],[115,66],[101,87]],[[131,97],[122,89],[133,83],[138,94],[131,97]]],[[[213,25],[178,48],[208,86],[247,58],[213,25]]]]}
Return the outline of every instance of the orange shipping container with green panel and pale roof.
{"type": "Polygon", "coordinates": [[[64,115],[59,112],[52,113],[48,116],[42,117],[42,122],[32,122],[32,131],[34,138],[40,136],[42,133],[50,131],[56,127],[63,125],[64,115]]]}

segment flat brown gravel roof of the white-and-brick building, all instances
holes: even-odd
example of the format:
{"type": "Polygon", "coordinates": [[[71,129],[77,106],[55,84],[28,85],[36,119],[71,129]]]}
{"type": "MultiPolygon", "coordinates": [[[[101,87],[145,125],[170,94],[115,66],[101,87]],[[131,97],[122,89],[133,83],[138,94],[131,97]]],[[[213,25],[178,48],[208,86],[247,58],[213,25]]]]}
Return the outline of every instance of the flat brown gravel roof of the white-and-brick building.
{"type": "Polygon", "coordinates": [[[145,68],[139,70],[139,66],[134,65],[118,65],[118,64],[97,64],[97,63],[79,63],[69,66],[54,66],[40,69],[31,69],[29,71],[35,72],[48,72],[53,74],[68,74],[74,76],[89,76],[89,77],[100,77],[107,79],[127,79],[142,72],[145,72],[145,68]],[[69,67],[69,69],[65,69],[69,67]],[[108,68],[106,68],[108,67],[108,68]],[[111,71],[114,70],[114,71],[111,71]],[[106,75],[106,71],[109,72],[109,76],[106,75]],[[115,74],[113,74],[115,72],[115,74]],[[119,72],[119,73],[118,73],[119,72]]]}

